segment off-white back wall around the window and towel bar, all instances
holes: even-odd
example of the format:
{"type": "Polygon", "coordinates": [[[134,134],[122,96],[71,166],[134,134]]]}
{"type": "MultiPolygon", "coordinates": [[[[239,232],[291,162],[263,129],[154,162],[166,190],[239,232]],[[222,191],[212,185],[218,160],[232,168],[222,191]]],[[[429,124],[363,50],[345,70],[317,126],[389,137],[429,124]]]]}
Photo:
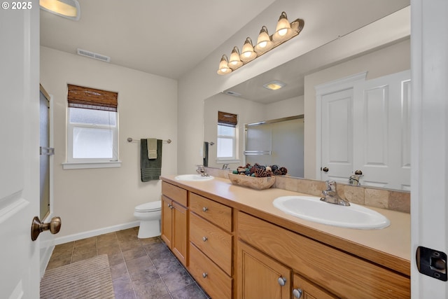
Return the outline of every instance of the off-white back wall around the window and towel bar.
{"type": "Polygon", "coordinates": [[[41,47],[41,84],[55,100],[53,215],[62,218],[57,239],[132,223],[137,204],[160,200],[160,181],[140,180],[139,142],[126,139],[172,139],[172,144],[163,144],[162,175],[176,174],[176,81],[41,47]],[[62,169],[67,83],[118,92],[121,167],[62,169]]]}

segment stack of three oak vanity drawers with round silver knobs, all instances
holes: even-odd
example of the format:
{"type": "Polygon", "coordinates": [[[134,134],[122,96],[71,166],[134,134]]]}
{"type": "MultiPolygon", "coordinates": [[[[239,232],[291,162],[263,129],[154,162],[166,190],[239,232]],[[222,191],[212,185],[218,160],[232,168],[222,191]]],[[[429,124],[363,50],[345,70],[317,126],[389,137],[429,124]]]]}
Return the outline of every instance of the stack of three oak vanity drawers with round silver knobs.
{"type": "Polygon", "coordinates": [[[232,298],[232,208],[190,193],[188,271],[211,298],[232,298]]]}

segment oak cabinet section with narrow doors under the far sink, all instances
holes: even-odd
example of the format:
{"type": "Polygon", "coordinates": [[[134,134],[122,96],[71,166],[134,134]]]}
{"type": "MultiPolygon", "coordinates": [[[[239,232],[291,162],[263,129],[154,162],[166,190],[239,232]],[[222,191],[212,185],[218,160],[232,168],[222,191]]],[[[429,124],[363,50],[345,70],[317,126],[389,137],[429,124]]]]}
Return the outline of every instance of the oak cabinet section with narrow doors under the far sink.
{"type": "Polygon", "coordinates": [[[162,240],[188,266],[188,191],[162,181],[162,240]]]}

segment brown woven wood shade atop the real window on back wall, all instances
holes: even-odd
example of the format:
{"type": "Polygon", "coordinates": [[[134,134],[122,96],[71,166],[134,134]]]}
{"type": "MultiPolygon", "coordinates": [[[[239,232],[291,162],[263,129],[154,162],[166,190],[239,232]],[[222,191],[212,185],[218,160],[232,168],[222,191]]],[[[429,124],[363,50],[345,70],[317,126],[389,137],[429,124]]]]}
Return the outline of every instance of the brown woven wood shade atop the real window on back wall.
{"type": "Polygon", "coordinates": [[[68,84],[67,100],[73,108],[117,111],[118,92],[68,84]]]}

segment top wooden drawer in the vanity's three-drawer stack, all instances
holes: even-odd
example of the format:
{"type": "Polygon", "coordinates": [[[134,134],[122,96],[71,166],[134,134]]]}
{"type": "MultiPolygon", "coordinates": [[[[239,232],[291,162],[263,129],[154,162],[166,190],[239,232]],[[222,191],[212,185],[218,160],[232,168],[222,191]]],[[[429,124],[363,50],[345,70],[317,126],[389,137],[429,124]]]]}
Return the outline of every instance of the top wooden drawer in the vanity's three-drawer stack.
{"type": "Polygon", "coordinates": [[[190,210],[221,228],[232,231],[232,208],[190,193],[190,210]]]}

